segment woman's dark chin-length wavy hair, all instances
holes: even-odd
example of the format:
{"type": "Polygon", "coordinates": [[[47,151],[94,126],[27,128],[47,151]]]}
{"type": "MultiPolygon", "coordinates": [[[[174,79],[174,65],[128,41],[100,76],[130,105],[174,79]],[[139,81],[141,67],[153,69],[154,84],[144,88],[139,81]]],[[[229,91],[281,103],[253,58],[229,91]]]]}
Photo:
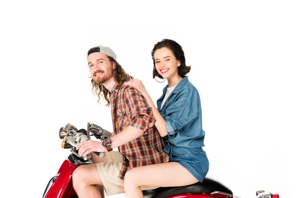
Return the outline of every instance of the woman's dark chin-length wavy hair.
{"type": "Polygon", "coordinates": [[[158,42],[154,45],[152,51],[151,51],[151,58],[153,60],[153,70],[152,70],[152,78],[155,78],[156,76],[164,79],[156,70],[156,64],[154,59],[154,53],[157,49],[161,48],[168,48],[172,51],[175,58],[179,61],[181,61],[181,65],[177,67],[177,73],[180,77],[184,78],[187,73],[191,70],[191,65],[186,65],[186,58],[185,53],[181,45],[179,45],[177,42],[170,40],[170,39],[163,39],[162,41],[158,42]]]}

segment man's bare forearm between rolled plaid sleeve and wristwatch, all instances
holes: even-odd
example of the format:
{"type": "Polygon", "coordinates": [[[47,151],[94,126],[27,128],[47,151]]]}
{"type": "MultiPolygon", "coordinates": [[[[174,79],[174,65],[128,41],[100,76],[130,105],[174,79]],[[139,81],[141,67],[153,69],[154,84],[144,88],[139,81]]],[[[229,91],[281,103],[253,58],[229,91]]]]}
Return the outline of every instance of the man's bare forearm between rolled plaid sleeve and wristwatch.
{"type": "Polygon", "coordinates": [[[116,148],[121,145],[124,145],[127,142],[130,142],[144,133],[143,130],[136,127],[128,126],[121,133],[110,138],[111,148],[116,148]]]}

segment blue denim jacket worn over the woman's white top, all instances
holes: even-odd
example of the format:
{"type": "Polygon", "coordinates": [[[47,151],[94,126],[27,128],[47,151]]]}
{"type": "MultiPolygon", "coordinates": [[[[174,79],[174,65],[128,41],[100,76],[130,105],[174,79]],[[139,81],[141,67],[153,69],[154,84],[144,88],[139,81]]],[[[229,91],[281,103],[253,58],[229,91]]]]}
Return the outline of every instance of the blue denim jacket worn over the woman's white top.
{"type": "Polygon", "coordinates": [[[165,120],[168,132],[164,137],[164,151],[168,153],[170,145],[185,148],[204,147],[205,132],[202,130],[201,104],[197,89],[187,76],[184,77],[160,109],[167,87],[168,85],[157,100],[158,111],[165,120]]]}

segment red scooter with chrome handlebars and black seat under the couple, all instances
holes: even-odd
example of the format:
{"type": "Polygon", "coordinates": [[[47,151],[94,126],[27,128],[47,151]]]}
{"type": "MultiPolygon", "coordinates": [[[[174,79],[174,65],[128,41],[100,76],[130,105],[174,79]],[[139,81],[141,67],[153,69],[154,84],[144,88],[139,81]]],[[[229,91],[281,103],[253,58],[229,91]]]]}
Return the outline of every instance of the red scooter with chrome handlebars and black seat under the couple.
{"type": "MultiPolygon", "coordinates": [[[[78,154],[76,147],[90,140],[91,136],[103,141],[110,137],[111,133],[102,129],[96,124],[87,125],[87,130],[78,130],[75,126],[67,124],[59,131],[60,139],[63,139],[62,148],[70,148],[71,154],[68,156],[58,173],[49,180],[43,198],[77,198],[77,194],[72,186],[72,173],[80,165],[92,164],[91,154],[82,157],[78,154]]],[[[104,152],[94,152],[99,157],[104,157],[104,152]]],[[[209,178],[205,178],[202,183],[198,182],[182,187],[161,187],[154,190],[143,191],[144,198],[239,198],[234,196],[232,191],[209,178]]],[[[278,194],[264,193],[257,191],[257,198],[279,198],[278,194]]]]}

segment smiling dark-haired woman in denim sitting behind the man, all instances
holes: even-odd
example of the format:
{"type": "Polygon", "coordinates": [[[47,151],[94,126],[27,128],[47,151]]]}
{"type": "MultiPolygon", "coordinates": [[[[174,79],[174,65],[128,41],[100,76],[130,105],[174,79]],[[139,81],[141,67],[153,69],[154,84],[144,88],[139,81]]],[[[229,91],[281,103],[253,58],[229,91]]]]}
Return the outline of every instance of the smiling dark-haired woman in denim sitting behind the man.
{"type": "Polygon", "coordinates": [[[155,126],[166,144],[168,163],[141,166],[125,175],[126,198],[142,198],[140,186],[174,187],[203,181],[208,172],[208,159],[203,151],[204,131],[197,89],[189,82],[182,47],[175,41],[163,39],[155,44],[153,78],[167,79],[168,85],[157,100],[157,108],[139,80],[126,82],[136,87],[152,107],[155,126]]]}

